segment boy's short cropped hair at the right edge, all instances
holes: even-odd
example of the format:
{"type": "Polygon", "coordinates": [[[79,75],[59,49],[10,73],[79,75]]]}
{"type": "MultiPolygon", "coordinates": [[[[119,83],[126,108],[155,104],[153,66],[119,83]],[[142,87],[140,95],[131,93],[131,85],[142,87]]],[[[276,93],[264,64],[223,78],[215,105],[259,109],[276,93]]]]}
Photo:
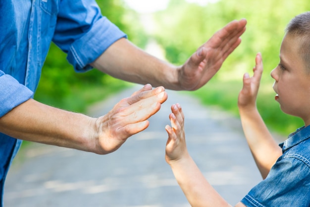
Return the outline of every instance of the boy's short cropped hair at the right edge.
{"type": "Polygon", "coordinates": [[[310,11],[295,16],[287,25],[286,33],[300,38],[300,55],[310,72],[310,11]]]}

